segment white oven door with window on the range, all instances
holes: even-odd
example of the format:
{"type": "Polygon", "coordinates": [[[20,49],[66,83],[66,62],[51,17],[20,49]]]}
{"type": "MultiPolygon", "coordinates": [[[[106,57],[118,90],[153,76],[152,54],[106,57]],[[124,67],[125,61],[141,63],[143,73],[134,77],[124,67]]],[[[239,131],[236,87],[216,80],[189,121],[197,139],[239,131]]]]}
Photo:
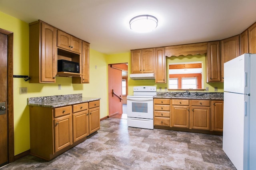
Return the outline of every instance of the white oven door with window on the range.
{"type": "Polygon", "coordinates": [[[127,97],[127,117],[153,119],[153,98],[127,97]]]}

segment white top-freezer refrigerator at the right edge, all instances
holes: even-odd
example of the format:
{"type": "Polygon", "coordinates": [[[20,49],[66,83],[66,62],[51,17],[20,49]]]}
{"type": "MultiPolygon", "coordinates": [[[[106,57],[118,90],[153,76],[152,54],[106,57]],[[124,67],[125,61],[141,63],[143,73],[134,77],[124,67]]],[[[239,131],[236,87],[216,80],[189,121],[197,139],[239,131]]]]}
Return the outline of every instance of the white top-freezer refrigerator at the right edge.
{"type": "Polygon", "coordinates": [[[256,54],[224,63],[223,150],[238,170],[256,170],[256,54]]]}

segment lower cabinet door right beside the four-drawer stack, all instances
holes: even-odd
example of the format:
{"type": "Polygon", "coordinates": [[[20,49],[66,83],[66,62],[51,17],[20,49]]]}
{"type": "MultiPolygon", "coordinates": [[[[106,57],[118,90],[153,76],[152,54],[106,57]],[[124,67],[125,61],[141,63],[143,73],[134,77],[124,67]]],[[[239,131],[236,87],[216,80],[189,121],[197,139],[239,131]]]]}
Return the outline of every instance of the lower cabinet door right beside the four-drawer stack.
{"type": "Polygon", "coordinates": [[[189,106],[172,106],[171,127],[189,128],[189,106]]]}

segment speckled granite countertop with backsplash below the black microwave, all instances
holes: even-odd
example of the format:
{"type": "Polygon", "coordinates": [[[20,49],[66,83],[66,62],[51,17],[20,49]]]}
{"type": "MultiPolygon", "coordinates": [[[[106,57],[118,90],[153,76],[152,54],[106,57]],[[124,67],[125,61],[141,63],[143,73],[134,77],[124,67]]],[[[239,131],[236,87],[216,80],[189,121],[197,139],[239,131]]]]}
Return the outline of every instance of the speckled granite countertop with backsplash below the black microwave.
{"type": "Polygon", "coordinates": [[[100,100],[100,98],[86,98],[86,97],[83,98],[82,94],[44,96],[44,97],[28,98],[28,106],[61,107],[61,106],[67,106],[72,104],[90,102],[94,100],[100,100]]]}

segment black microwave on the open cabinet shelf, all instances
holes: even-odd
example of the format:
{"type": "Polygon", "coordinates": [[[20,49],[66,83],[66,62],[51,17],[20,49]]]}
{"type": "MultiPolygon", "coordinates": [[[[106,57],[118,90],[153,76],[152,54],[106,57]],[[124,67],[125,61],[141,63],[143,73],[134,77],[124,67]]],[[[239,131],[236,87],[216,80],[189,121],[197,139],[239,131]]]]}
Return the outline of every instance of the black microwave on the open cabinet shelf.
{"type": "Polygon", "coordinates": [[[67,60],[58,60],[58,72],[80,73],[79,63],[67,60]]]}

